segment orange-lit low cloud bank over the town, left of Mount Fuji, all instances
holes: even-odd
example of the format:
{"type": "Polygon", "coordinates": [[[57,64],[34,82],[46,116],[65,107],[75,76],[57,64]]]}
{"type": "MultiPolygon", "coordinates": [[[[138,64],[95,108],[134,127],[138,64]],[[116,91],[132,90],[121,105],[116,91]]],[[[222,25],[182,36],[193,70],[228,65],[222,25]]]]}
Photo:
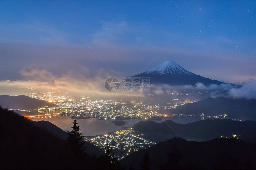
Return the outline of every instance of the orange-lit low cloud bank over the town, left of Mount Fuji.
{"type": "MultiPolygon", "coordinates": [[[[0,81],[2,94],[19,95],[25,93],[58,92],[60,94],[74,96],[88,96],[90,94],[104,96],[143,96],[142,92],[108,92],[105,87],[107,78],[112,77],[112,70],[100,69],[95,76],[91,76],[90,69],[80,65],[76,70],[69,70],[58,77],[46,70],[40,70],[35,66],[24,68],[20,71],[26,80],[0,81]],[[32,89],[32,90],[31,90],[32,89]]],[[[121,83],[121,77],[117,77],[121,83]]]]}

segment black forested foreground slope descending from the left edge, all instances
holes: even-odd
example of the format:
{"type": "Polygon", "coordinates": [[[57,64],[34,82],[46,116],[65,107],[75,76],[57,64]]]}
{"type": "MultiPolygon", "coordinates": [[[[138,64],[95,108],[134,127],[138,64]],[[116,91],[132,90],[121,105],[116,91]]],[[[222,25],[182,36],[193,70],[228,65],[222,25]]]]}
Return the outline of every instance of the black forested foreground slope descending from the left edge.
{"type": "Polygon", "coordinates": [[[104,159],[88,154],[77,159],[66,141],[1,107],[0,126],[0,169],[110,168],[104,159]]]}

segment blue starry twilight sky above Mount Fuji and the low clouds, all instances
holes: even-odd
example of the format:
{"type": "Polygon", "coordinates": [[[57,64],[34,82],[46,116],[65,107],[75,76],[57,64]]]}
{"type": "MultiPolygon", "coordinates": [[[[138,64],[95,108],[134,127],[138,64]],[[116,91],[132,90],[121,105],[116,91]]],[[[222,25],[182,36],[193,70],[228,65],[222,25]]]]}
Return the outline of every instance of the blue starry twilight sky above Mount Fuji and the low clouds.
{"type": "Polygon", "coordinates": [[[132,76],[155,57],[143,71],[256,79],[255,17],[255,1],[1,1],[1,81],[132,76]]]}

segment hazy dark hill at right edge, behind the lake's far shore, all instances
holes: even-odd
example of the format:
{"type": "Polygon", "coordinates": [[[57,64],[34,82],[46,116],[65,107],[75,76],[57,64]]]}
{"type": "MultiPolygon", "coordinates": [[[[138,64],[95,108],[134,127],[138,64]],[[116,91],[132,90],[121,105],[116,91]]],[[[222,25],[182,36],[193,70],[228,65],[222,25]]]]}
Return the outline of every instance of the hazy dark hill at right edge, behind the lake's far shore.
{"type": "Polygon", "coordinates": [[[198,114],[218,116],[227,114],[230,119],[256,120],[255,99],[233,99],[227,97],[207,98],[194,103],[187,103],[170,110],[171,114],[198,114]]]}

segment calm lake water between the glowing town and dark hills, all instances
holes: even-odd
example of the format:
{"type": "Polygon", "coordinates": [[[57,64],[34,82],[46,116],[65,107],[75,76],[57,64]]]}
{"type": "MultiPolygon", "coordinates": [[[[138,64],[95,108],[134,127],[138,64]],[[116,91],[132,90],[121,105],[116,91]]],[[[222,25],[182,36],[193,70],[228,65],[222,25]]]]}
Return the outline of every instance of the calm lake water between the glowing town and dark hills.
{"type": "MultiPolygon", "coordinates": [[[[201,116],[171,116],[164,118],[163,120],[172,120],[176,123],[187,124],[194,121],[203,120],[201,116]]],[[[32,119],[33,121],[49,121],[52,124],[58,126],[64,131],[70,131],[73,125],[74,119],[69,118],[68,116],[45,116],[32,119]]],[[[157,123],[163,122],[163,120],[155,121],[157,123]]],[[[77,119],[78,125],[80,126],[81,132],[84,136],[95,136],[100,134],[106,134],[108,132],[117,131],[122,129],[122,127],[132,127],[132,125],[137,124],[140,119],[129,119],[124,120],[125,125],[118,126],[114,123],[111,123],[112,120],[98,120],[96,118],[90,119],[77,119]]]]}

